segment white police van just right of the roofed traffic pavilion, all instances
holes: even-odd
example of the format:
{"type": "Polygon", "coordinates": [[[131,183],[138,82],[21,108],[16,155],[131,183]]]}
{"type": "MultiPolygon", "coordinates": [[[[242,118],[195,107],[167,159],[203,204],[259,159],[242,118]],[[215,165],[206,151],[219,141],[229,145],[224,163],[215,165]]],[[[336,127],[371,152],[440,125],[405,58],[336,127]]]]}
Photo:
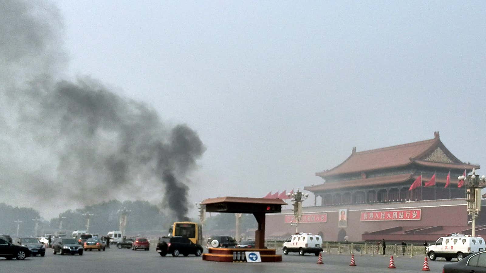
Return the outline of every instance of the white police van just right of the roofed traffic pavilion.
{"type": "Polygon", "coordinates": [[[312,233],[298,233],[283,243],[282,250],[285,255],[289,252],[298,252],[299,255],[313,253],[315,256],[319,256],[319,252],[322,251],[322,238],[312,233]]]}

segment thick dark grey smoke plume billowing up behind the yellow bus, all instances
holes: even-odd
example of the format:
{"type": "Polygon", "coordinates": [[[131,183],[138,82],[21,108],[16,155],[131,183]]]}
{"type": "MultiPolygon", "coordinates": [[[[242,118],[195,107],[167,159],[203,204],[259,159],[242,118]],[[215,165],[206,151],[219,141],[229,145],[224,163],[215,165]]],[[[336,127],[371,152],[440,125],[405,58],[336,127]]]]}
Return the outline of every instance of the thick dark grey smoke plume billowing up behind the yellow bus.
{"type": "MultiPolygon", "coordinates": [[[[0,9],[0,181],[45,206],[158,200],[187,220],[188,175],[205,147],[186,125],[91,78],[61,77],[58,10],[7,0],[0,9]]],[[[100,56],[103,52],[100,52],[100,56]]],[[[32,205],[32,204],[31,204],[32,205]]]]}

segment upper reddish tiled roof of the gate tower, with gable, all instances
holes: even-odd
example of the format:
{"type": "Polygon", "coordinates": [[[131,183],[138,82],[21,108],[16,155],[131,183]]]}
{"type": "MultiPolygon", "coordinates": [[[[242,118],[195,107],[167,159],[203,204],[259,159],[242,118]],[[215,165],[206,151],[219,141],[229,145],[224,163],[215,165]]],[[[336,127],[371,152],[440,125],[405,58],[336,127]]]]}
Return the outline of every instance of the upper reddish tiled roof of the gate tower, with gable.
{"type": "Polygon", "coordinates": [[[356,152],[356,148],[353,148],[353,152],[343,163],[339,164],[333,169],[316,172],[316,175],[321,176],[322,178],[326,178],[339,174],[407,166],[413,163],[421,165],[430,164],[426,166],[444,167],[451,169],[479,168],[479,166],[466,165],[462,163],[453,154],[451,154],[449,150],[447,150],[444,144],[442,144],[439,139],[438,132],[434,132],[434,136],[435,137],[433,139],[363,152],[356,152]],[[432,153],[437,147],[440,147],[441,150],[445,154],[447,154],[447,156],[451,159],[453,163],[436,163],[418,160],[421,159],[423,156],[432,153]]]}

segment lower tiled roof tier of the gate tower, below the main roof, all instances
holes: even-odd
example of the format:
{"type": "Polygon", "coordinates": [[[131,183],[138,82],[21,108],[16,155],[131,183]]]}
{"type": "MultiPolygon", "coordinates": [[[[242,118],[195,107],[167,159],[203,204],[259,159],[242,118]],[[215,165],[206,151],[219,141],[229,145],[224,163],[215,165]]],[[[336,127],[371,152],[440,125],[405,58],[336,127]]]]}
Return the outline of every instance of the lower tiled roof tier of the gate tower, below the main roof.
{"type": "Polygon", "coordinates": [[[304,187],[304,189],[309,191],[321,191],[321,190],[336,189],[336,188],[357,188],[357,187],[367,187],[367,186],[383,185],[383,184],[403,183],[407,180],[411,180],[412,176],[413,173],[404,173],[404,174],[379,176],[379,177],[364,178],[364,179],[327,182],[317,186],[304,187]]]}

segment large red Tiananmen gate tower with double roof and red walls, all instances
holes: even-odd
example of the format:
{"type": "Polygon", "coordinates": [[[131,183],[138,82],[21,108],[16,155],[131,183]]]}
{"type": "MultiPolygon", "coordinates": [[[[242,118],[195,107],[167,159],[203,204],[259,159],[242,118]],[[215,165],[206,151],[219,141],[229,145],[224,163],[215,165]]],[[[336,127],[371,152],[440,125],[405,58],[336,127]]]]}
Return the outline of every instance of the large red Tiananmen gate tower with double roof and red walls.
{"type": "MultiPolygon", "coordinates": [[[[465,187],[457,177],[479,165],[464,163],[434,138],[357,152],[338,166],[317,172],[325,183],[304,187],[314,205],[302,210],[299,232],[320,234],[325,241],[435,241],[449,233],[470,234],[465,187]],[[447,188],[447,176],[450,184],[447,188]],[[435,185],[423,187],[435,174],[435,185]],[[422,177],[422,187],[409,190],[422,177]]],[[[486,209],[486,208],[485,208],[486,209]]],[[[267,236],[295,232],[293,211],[267,217],[267,236]]],[[[486,213],[477,219],[476,234],[486,235],[486,213]]]]}

